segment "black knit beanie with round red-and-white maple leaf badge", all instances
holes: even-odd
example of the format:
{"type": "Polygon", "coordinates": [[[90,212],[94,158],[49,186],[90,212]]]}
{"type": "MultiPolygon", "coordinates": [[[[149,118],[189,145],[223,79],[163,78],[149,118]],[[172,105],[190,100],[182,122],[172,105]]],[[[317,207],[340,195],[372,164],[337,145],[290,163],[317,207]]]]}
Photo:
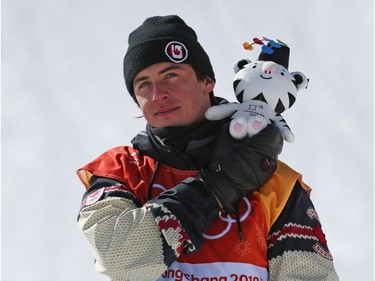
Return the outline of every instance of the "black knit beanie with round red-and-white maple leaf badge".
{"type": "Polygon", "coordinates": [[[178,16],[147,18],[130,33],[128,43],[124,58],[124,78],[135,101],[134,77],[155,63],[187,63],[215,80],[210,59],[199,44],[195,31],[178,16]]]}

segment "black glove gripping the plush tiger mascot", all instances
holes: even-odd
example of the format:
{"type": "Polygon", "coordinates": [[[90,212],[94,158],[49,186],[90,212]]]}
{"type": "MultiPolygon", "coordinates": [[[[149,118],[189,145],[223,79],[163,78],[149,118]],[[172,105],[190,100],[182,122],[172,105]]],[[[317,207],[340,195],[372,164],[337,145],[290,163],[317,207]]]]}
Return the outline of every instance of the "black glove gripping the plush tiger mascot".
{"type": "Polygon", "coordinates": [[[280,130],[273,124],[240,141],[232,138],[227,124],[208,167],[199,172],[198,179],[212,191],[226,213],[234,213],[233,204],[272,176],[282,147],[280,130]]]}

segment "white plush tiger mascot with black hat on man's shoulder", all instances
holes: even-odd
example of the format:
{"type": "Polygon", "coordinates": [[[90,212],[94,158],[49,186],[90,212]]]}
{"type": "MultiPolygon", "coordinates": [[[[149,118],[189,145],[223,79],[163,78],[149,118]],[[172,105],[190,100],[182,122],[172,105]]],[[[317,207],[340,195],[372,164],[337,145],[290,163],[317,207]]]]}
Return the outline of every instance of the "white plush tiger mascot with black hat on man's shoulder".
{"type": "Polygon", "coordinates": [[[289,72],[288,60],[289,48],[283,45],[272,54],[262,51],[257,61],[237,61],[233,88],[239,103],[212,106],[206,118],[219,120],[233,114],[229,131],[236,139],[253,136],[274,122],[283,139],[293,142],[294,134],[281,113],[292,107],[308,79],[299,71],[289,72]]]}

